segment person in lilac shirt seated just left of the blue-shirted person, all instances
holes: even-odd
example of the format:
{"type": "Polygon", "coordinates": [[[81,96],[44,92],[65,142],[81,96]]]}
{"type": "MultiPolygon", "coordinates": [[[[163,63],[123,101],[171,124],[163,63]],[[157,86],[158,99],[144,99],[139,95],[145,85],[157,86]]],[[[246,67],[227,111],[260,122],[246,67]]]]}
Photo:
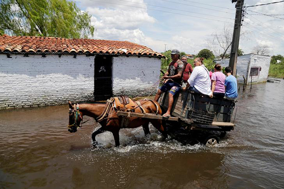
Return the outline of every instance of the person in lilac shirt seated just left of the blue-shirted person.
{"type": "Polygon", "coordinates": [[[211,97],[215,96],[217,98],[223,98],[225,96],[225,85],[224,85],[225,79],[226,79],[226,76],[222,72],[221,65],[216,64],[214,66],[214,72],[211,77],[211,81],[212,81],[211,91],[213,93],[211,97]]]}

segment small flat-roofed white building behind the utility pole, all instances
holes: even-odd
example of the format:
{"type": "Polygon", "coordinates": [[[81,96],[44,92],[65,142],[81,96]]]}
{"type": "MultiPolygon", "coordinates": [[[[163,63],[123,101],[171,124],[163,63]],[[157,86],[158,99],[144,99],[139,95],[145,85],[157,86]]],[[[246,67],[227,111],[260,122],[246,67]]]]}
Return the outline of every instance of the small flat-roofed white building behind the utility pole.
{"type": "MultiPolygon", "coordinates": [[[[237,82],[246,84],[266,82],[270,66],[270,56],[246,54],[237,57],[237,82]]],[[[222,67],[229,66],[229,59],[218,60],[222,67]]]]}

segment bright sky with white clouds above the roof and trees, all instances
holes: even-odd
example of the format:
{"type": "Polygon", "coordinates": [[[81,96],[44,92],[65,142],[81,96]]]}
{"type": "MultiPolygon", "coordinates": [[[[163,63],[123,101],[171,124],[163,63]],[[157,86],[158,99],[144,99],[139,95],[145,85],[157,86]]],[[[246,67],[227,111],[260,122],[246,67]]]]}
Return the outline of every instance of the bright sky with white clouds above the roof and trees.
{"type": "MultiPolygon", "coordinates": [[[[280,0],[245,0],[245,6],[280,0]]],[[[75,0],[92,15],[94,39],[130,41],[157,52],[178,49],[197,54],[213,48],[213,34],[233,31],[236,3],[231,0],[75,0]]],[[[245,54],[265,45],[269,55],[284,55],[284,2],[247,7],[239,48],[245,54]],[[266,14],[270,16],[261,15],[266,14]],[[275,18],[278,17],[278,18],[275,18]]]]}

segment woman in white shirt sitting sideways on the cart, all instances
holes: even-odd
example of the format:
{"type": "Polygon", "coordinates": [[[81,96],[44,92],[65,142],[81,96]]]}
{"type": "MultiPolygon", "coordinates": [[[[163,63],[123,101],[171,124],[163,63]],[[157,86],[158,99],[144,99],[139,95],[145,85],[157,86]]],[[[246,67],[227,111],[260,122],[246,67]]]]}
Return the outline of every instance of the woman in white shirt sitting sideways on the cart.
{"type": "Polygon", "coordinates": [[[194,69],[189,77],[187,86],[183,88],[186,91],[189,88],[189,91],[194,93],[211,95],[211,80],[209,76],[209,71],[203,65],[204,58],[195,58],[194,59],[194,69]],[[190,86],[190,87],[189,87],[190,86]]]}

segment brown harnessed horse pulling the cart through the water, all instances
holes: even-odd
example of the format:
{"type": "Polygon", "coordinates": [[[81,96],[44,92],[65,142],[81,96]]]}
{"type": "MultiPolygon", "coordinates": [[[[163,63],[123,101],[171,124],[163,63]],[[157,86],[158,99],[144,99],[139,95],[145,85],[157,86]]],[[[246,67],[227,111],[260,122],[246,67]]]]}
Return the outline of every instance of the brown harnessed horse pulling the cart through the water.
{"type": "MultiPolygon", "coordinates": [[[[162,115],[162,109],[159,103],[156,101],[145,99],[133,102],[137,104],[137,106],[135,106],[135,108],[132,110],[134,113],[157,113],[162,115]]],[[[148,127],[150,122],[156,129],[158,129],[158,131],[162,133],[163,140],[167,138],[166,130],[161,119],[130,117],[128,120],[126,120],[125,117],[117,115],[117,110],[113,107],[112,103],[94,102],[74,104],[69,101],[69,131],[71,133],[76,132],[77,128],[80,127],[83,116],[89,116],[95,118],[95,120],[101,125],[101,127],[92,134],[94,146],[97,144],[95,141],[96,135],[105,131],[110,131],[113,134],[115,145],[119,146],[119,130],[121,129],[121,125],[123,125],[123,128],[136,128],[142,125],[144,134],[146,136],[150,134],[148,127]],[[103,114],[105,116],[102,116],[103,114]]]]}

